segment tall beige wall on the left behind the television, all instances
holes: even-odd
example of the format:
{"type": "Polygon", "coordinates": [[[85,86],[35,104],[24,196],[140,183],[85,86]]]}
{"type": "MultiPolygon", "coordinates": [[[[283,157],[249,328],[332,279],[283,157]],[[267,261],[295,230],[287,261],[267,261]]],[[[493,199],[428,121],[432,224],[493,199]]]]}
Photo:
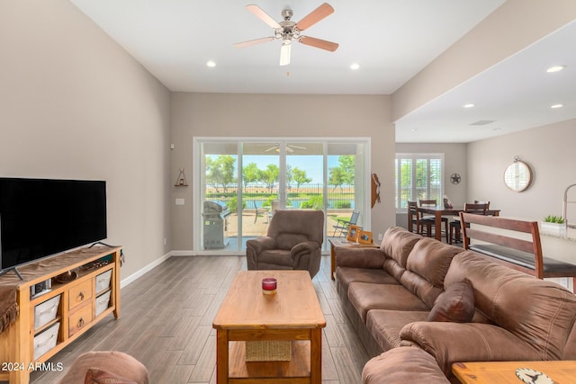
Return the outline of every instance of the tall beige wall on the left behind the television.
{"type": "Polygon", "coordinates": [[[123,279],[168,253],[166,87],[66,0],[0,2],[0,52],[0,175],[105,180],[123,279]]]}

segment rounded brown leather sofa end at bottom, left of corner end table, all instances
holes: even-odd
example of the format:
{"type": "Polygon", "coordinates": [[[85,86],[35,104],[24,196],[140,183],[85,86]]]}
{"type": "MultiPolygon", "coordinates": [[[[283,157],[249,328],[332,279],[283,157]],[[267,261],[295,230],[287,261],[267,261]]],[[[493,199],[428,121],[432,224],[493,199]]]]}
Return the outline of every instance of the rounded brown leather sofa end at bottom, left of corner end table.
{"type": "Polygon", "coordinates": [[[366,362],[364,384],[450,384],[433,356],[415,347],[394,348],[366,362]]]}

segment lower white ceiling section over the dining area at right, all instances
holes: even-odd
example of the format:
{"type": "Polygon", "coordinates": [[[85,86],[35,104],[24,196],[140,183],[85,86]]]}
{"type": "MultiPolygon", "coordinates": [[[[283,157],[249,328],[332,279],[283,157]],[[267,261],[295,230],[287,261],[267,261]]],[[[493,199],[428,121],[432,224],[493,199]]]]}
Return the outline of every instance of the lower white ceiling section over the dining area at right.
{"type": "Polygon", "coordinates": [[[575,47],[572,22],[396,121],[396,141],[467,143],[576,118],[575,47]],[[493,122],[471,125],[482,121],[493,122]]]}

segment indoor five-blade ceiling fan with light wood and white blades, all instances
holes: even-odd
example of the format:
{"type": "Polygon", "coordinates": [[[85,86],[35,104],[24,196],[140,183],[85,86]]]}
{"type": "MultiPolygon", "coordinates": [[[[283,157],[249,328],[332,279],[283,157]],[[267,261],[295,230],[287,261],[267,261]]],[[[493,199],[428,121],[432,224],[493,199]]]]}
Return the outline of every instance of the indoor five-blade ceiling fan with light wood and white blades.
{"type": "Polygon", "coordinates": [[[338,44],[335,42],[316,39],[310,36],[303,36],[301,34],[302,31],[307,30],[315,23],[320,22],[320,20],[334,13],[334,8],[332,8],[332,6],[328,3],[321,4],[314,11],[305,16],[300,22],[293,22],[291,20],[293,16],[291,9],[284,9],[284,11],[282,11],[282,17],[284,17],[282,22],[276,22],[268,13],[264,12],[262,8],[255,4],[246,5],[246,9],[249,12],[254,13],[257,18],[274,28],[275,35],[257,40],[238,42],[234,44],[234,47],[236,48],[260,44],[266,41],[282,40],[282,47],[280,49],[281,66],[290,64],[290,52],[292,50],[293,40],[302,42],[302,44],[305,45],[310,45],[311,47],[326,49],[330,52],[334,52],[336,49],[338,49],[338,44]]]}

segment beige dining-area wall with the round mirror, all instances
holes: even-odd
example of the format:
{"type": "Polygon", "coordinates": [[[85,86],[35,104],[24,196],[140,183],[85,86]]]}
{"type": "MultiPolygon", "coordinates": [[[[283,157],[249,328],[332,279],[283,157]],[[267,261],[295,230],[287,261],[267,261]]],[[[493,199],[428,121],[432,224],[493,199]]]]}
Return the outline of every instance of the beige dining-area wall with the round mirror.
{"type": "MultiPolygon", "coordinates": [[[[576,183],[576,120],[476,141],[468,145],[468,199],[490,200],[502,216],[542,220],[562,215],[563,193],[576,183]],[[512,192],[504,184],[504,170],[514,156],[531,166],[532,185],[525,192],[512,192]]],[[[576,190],[571,190],[576,201],[576,190]]],[[[569,206],[568,219],[576,223],[576,204],[569,206]],[[570,219],[572,217],[572,220],[570,219]]]]}

